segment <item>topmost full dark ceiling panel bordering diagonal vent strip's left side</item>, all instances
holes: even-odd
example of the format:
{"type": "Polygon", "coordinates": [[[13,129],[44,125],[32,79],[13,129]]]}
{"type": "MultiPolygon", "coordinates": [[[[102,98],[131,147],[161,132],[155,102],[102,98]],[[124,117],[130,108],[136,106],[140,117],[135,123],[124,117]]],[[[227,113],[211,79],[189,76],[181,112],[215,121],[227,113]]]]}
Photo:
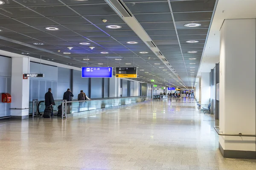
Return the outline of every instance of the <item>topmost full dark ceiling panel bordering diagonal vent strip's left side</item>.
{"type": "Polygon", "coordinates": [[[116,14],[108,4],[70,6],[80,15],[109,15],[116,14]]]}

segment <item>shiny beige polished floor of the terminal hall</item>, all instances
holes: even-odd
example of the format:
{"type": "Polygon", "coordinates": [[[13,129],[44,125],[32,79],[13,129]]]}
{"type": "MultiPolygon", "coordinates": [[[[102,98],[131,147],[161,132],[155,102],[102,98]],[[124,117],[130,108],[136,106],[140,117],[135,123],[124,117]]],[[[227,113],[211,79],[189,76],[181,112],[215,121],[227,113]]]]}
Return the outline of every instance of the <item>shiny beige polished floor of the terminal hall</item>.
{"type": "Polygon", "coordinates": [[[215,125],[187,98],[0,121],[0,170],[256,170],[255,160],[221,156],[215,125]]]}

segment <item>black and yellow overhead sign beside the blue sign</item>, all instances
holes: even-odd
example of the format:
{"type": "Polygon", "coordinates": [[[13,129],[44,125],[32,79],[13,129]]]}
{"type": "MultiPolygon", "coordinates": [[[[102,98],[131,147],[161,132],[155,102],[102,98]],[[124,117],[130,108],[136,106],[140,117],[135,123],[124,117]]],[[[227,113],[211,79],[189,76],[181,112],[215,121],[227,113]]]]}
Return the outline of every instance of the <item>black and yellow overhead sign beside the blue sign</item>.
{"type": "Polygon", "coordinates": [[[118,78],[137,78],[136,67],[117,67],[116,77],[118,78]]]}

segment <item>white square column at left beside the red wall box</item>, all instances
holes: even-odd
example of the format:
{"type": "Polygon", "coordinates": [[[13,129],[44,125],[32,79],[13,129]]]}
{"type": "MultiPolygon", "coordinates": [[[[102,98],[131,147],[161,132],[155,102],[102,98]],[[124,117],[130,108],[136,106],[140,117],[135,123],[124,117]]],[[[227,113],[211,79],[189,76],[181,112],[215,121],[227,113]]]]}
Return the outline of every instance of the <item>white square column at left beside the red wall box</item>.
{"type": "Polygon", "coordinates": [[[11,116],[14,119],[29,118],[29,78],[23,79],[23,74],[28,72],[28,58],[12,57],[11,116]]]}

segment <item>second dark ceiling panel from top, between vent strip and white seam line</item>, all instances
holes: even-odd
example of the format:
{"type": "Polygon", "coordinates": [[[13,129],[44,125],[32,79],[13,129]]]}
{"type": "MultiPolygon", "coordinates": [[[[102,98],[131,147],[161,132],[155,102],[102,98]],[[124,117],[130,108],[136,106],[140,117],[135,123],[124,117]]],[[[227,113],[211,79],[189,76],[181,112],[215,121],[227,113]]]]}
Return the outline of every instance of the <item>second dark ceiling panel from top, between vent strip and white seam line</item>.
{"type": "Polygon", "coordinates": [[[139,21],[139,23],[145,22],[171,22],[172,14],[134,14],[134,17],[139,21]]]}

